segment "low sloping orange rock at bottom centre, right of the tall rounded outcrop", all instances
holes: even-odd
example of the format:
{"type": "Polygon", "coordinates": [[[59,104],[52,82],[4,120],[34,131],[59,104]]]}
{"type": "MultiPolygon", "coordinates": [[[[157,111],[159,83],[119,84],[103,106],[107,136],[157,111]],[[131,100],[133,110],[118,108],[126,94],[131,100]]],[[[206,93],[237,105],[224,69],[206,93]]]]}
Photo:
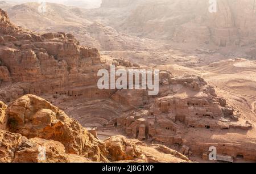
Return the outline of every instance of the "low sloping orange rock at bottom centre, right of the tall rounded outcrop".
{"type": "Polygon", "coordinates": [[[120,162],[190,162],[189,159],[164,145],[150,145],[138,139],[127,139],[121,135],[110,137],[104,141],[112,160],[120,162]]]}

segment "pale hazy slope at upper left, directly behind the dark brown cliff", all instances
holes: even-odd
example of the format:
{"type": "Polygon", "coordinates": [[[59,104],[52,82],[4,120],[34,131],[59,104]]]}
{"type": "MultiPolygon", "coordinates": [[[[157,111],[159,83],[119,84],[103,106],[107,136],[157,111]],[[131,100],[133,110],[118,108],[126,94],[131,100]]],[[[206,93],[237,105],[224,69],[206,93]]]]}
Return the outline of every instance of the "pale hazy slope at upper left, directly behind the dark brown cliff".
{"type": "Polygon", "coordinates": [[[23,28],[36,32],[72,33],[82,45],[100,50],[149,49],[153,43],[149,39],[140,39],[103,24],[90,20],[84,15],[85,9],[47,3],[46,13],[38,11],[38,3],[22,5],[1,5],[9,13],[11,20],[23,28]]]}

